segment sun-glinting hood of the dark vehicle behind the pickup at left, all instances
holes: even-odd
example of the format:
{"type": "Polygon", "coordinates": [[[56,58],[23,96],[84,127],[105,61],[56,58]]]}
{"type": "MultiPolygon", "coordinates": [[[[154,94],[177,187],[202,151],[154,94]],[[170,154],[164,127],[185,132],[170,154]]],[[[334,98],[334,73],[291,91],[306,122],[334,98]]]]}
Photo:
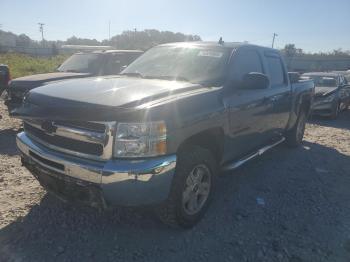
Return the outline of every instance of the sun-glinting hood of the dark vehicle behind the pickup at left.
{"type": "Polygon", "coordinates": [[[47,74],[37,74],[19,77],[11,81],[10,88],[16,88],[18,90],[30,90],[35,87],[41,86],[46,82],[64,80],[77,77],[89,76],[89,73],[69,73],[69,72],[54,72],[47,74]]]}

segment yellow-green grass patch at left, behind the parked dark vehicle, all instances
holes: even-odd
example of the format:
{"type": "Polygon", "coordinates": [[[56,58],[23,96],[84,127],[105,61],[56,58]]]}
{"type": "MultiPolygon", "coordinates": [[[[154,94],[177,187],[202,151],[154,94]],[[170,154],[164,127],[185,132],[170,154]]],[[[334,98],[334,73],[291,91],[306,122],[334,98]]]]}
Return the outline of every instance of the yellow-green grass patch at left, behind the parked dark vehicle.
{"type": "Polygon", "coordinates": [[[40,73],[53,72],[69,56],[34,57],[25,54],[0,54],[0,64],[10,67],[12,79],[40,73]]]}

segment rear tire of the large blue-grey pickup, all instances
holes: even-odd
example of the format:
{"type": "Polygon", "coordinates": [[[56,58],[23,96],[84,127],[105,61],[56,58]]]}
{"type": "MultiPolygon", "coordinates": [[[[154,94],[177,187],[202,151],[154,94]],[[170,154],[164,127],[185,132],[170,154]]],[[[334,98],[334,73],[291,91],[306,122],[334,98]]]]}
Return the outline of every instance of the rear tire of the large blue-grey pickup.
{"type": "Polygon", "coordinates": [[[306,110],[301,110],[294,127],[286,133],[286,143],[289,147],[298,147],[301,145],[304,137],[306,120],[306,110]]]}

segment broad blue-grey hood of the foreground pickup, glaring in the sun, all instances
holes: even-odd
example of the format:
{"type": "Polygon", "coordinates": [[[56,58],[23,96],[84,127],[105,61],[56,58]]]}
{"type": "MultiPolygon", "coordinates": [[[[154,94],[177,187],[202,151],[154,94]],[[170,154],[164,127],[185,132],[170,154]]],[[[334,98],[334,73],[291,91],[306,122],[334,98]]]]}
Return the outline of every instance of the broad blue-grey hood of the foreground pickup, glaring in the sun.
{"type": "Polygon", "coordinates": [[[134,77],[98,77],[62,81],[31,90],[21,108],[21,118],[90,119],[107,121],[116,114],[169,96],[207,90],[199,84],[134,77]]]}

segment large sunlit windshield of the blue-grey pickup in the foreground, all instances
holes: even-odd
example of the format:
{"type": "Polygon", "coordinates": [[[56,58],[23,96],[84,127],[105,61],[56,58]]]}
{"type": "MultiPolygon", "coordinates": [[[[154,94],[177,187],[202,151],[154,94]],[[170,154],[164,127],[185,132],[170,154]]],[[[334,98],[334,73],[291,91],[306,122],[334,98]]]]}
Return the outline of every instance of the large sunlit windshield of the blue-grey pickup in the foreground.
{"type": "Polygon", "coordinates": [[[221,85],[229,54],[225,48],[160,46],[150,49],[122,74],[221,85]]]}

